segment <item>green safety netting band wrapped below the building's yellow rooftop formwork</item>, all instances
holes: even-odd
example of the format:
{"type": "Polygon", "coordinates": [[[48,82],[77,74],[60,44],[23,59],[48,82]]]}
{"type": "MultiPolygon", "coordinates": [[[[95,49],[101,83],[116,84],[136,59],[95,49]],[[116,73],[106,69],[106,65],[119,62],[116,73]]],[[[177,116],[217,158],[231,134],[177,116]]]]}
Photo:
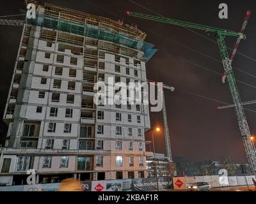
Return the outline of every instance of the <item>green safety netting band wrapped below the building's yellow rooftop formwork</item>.
{"type": "Polygon", "coordinates": [[[35,20],[28,19],[28,23],[68,33],[80,34],[90,38],[97,38],[99,40],[110,41],[124,45],[125,47],[134,48],[144,53],[143,57],[145,58],[145,61],[148,61],[157,52],[157,49],[154,49],[154,45],[151,43],[130,38],[124,34],[115,33],[95,25],[79,24],[68,20],[49,17],[47,15],[37,15],[35,20]]]}

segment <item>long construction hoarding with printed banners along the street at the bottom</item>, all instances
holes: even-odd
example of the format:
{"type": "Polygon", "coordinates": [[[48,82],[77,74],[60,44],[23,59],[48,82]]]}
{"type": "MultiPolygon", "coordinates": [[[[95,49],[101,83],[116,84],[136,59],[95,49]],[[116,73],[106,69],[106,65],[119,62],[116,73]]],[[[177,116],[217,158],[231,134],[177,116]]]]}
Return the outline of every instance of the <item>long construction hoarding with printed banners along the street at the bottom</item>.
{"type": "MultiPolygon", "coordinates": [[[[172,177],[159,177],[159,190],[173,189],[172,177]]],[[[223,177],[219,175],[184,177],[186,186],[196,182],[207,182],[211,187],[227,186],[252,186],[255,176],[234,176],[223,177]]],[[[156,191],[157,182],[155,177],[145,179],[116,179],[97,180],[81,182],[83,191],[156,191]]],[[[22,186],[0,186],[0,191],[58,191],[61,183],[55,184],[35,184],[22,186]]]]}

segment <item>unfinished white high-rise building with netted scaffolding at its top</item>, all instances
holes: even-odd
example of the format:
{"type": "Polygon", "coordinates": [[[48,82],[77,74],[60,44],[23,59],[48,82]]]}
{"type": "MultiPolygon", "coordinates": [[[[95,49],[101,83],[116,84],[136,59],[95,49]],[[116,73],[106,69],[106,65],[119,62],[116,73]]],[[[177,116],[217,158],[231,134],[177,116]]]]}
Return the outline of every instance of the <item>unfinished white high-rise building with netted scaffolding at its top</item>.
{"type": "MultiPolygon", "coordinates": [[[[95,83],[147,82],[137,27],[51,4],[27,19],[4,111],[0,184],[146,177],[147,105],[93,103],[95,83]]],[[[127,93],[128,96],[129,93],[127,93]]]]}

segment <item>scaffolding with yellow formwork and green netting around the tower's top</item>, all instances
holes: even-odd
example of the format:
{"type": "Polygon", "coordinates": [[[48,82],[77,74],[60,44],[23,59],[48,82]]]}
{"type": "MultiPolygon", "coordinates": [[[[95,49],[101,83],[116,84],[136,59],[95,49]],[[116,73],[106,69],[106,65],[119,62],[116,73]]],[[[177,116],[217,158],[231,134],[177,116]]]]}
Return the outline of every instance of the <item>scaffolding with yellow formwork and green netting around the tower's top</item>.
{"type": "Polygon", "coordinates": [[[132,48],[143,52],[133,55],[139,55],[146,62],[157,52],[154,45],[144,41],[146,34],[131,25],[52,4],[45,4],[44,9],[44,13],[37,13],[36,19],[27,19],[27,24],[122,45],[120,53],[132,48]]]}

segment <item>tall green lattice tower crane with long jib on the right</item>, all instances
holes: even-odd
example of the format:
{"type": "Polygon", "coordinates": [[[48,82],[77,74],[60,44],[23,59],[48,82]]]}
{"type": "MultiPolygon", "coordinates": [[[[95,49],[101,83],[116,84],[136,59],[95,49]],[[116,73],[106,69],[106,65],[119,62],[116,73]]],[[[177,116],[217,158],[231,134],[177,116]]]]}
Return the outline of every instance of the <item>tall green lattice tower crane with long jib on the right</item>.
{"type": "Polygon", "coordinates": [[[254,147],[252,141],[250,140],[250,136],[251,136],[250,129],[248,126],[248,122],[246,120],[243,105],[242,105],[239,91],[237,88],[232,65],[230,62],[230,57],[228,56],[227,47],[225,45],[225,37],[226,36],[237,37],[241,40],[241,39],[246,38],[245,34],[236,33],[234,31],[229,31],[226,29],[220,29],[218,27],[212,27],[212,26],[208,26],[208,25],[200,25],[200,24],[195,24],[195,23],[191,23],[191,22],[184,22],[182,20],[175,20],[173,18],[158,17],[158,16],[154,16],[154,15],[147,15],[144,13],[136,13],[136,12],[132,12],[132,11],[127,11],[127,15],[129,15],[131,17],[144,18],[147,20],[162,22],[164,24],[179,25],[181,27],[187,27],[190,29],[198,29],[198,30],[205,31],[207,33],[214,34],[214,36],[216,37],[217,43],[218,43],[218,48],[220,50],[221,61],[222,61],[225,75],[226,75],[228,85],[230,88],[232,100],[235,105],[239,129],[241,131],[241,136],[242,136],[246,156],[248,159],[248,163],[250,165],[250,170],[251,170],[252,175],[256,175],[256,150],[255,150],[255,147],[254,147]]]}

